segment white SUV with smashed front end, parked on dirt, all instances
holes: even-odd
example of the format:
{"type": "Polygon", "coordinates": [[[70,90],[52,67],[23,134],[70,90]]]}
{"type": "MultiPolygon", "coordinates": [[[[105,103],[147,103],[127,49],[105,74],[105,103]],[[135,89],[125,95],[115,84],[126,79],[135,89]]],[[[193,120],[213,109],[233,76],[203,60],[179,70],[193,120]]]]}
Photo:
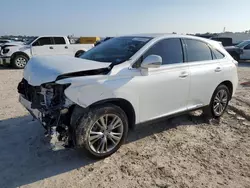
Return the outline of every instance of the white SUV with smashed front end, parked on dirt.
{"type": "Polygon", "coordinates": [[[220,117],[238,84],[237,64],[208,39],[115,37],[80,58],[32,58],[19,100],[54,141],[101,158],[136,124],[195,109],[220,117]]]}

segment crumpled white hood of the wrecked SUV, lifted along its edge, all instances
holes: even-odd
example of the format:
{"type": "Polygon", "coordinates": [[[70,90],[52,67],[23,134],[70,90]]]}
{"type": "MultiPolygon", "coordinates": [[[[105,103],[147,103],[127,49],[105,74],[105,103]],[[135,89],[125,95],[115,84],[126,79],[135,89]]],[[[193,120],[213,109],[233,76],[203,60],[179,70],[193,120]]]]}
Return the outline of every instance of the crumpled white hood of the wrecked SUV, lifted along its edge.
{"type": "Polygon", "coordinates": [[[25,66],[23,77],[30,85],[39,86],[62,74],[106,68],[110,64],[70,56],[36,56],[25,66]]]}

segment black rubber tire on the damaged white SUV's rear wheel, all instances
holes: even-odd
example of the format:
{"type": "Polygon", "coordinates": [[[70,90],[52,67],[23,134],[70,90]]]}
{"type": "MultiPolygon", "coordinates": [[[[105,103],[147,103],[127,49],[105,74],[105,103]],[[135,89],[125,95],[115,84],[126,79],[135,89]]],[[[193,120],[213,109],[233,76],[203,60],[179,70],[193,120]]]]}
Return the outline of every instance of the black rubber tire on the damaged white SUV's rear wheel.
{"type": "Polygon", "coordinates": [[[226,108],[227,108],[227,106],[228,106],[228,102],[229,102],[229,100],[230,100],[230,92],[229,92],[229,89],[228,89],[228,87],[226,86],[226,85],[219,85],[216,89],[215,89],[215,91],[214,91],[214,93],[213,93],[213,96],[212,96],[212,98],[211,98],[211,101],[210,101],[210,104],[209,104],[209,106],[207,106],[205,109],[203,109],[203,112],[204,112],[204,114],[206,115],[206,116],[208,116],[208,117],[210,117],[210,118],[214,118],[214,119],[218,119],[219,117],[221,117],[223,114],[224,114],[224,112],[225,112],[225,110],[226,110],[226,108]],[[217,100],[217,98],[216,97],[218,97],[218,95],[219,95],[219,92],[222,92],[222,91],[224,91],[225,92],[225,95],[227,96],[226,98],[223,98],[223,102],[221,101],[220,102],[220,104],[219,105],[222,105],[223,106],[223,108],[222,108],[222,110],[218,113],[218,108],[216,108],[216,105],[218,105],[218,100],[217,100]],[[226,99],[226,100],[225,100],[226,99]],[[224,106],[225,105],[225,106],[224,106]]]}

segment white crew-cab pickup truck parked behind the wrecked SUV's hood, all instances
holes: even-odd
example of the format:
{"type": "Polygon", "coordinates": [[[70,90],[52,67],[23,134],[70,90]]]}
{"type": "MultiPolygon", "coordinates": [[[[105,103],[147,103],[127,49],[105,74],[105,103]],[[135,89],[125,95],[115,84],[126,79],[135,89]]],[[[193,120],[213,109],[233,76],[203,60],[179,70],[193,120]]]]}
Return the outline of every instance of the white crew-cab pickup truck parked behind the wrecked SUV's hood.
{"type": "Polygon", "coordinates": [[[20,45],[1,47],[0,63],[23,69],[33,56],[68,55],[79,57],[94,44],[71,44],[66,36],[40,36],[20,45]]]}

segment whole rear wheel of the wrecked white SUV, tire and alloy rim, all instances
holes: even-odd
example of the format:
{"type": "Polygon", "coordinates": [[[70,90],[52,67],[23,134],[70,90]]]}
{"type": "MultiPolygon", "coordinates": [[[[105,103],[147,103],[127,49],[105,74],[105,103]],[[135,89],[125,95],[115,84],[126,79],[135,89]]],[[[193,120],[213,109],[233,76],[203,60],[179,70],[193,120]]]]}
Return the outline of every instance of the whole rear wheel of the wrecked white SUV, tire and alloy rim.
{"type": "Polygon", "coordinates": [[[219,118],[225,112],[230,100],[230,92],[225,85],[219,85],[210,101],[210,105],[204,109],[206,115],[212,118],[219,118]]]}

